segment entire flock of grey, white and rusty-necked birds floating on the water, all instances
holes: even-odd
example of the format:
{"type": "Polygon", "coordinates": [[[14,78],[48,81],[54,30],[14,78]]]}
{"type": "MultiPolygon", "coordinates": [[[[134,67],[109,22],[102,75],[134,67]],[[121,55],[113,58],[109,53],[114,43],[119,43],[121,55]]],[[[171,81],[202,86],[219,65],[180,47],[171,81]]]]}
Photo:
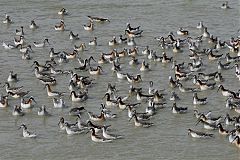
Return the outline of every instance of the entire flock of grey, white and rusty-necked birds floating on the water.
{"type": "MultiPolygon", "coordinates": [[[[228,3],[224,3],[221,6],[222,9],[230,8],[228,3]]],[[[62,8],[59,15],[67,16],[68,11],[62,8]]],[[[108,18],[88,16],[89,24],[83,26],[86,31],[93,32],[95,30],[95,23],[111,23],[108,18]]],[[[10,25],[13,23],[10,16],[6,14],[5,19],[2,21],[4,24],[10,25]]],[[[37,30],[39,26],[34,20],[31,21],[30,29],[37,30]]],[[[65,23],[63,20],[58,25],[54,26],[56,31],[65,31],[65,23]]],[[[157,115],[158,110],[166,108],[169,101],[172,101],[172,113],[184,114],[188,111],[187,107],[179,107],[178,101],[181,101],[175,90],[179,89],[180,92],[193,94],[193,105],[205,105],[208,103],[207,97],[199,97],[199,92],[207,90],[214,90],[218,88],[222,96],[227,97],[226,109],[234,110],[238,115],[231,117],[230,114],[226,114],[219,117],[211,115],[211,111],[200,112],[197,109],[194,110],[194,116],[196,116],[197,124],[200,122],[207,130],[218,130],[221,135],[228,136],[229,142],[240,147],[240,93],[231,91],[224,87],[224,77],[221,73],[222,70],[229,70],[230,72],[235,69],[236,78],[240,80],[240,68],[238,62],[240,61],[240,38],[232,37],[230,40],[221,41],[217,37],[214,37],[204,26],[203,22],[200,22],[197,27],[200,36],[190,37],[190,31],[183,28],[179,28],[175,33],[170,32],[167,37],[155,37],[156,43],[164,51],[162,55],[158,55],[155,51],[151,50],[149,46],[146,46],[142,51],[139,51],[135,38],[141,38],[143,30],[138,27],[132,27],[129,23],[124,30],[125,35],[120,35],[118,38],[113,37],[108,42],[108,45],[115,48],[115,46],[128,46],[129,49],[124,48],[121,51],[117,49],[111,50],[109,53],[101,53],[98,61],[90,55],[87,59],[82,59],[79,53],[86,51],[87,45],[85,43],[79,46],[74,45],[71,53],[67,52],[55,52],[54,48],[49,51],[50,59],[46,60],[44,64],[40,64],[37,60],[33,61],[32,67],[34,67],[34,74],[36,80],[42,83],[47,92],[48,97],[53,99],[54,108],[66,107],[64,96],[69,95],[73,102],[83,102],[88,100],[88,88],[97,85],[97,80],[91,78],[94,75],[101,75],[103,72],[104,64],[112,64],[111,70],[118,79],[122,80],[122,83],[128,82],[130,84],[128,96],[118,95],[118,88],[111,84],[107,84],[107,90],[103,97],[104,103],[100,107],[100,114],[94,114],[86,109],[86,107],[80,106],[71,108],[69,115],[76,116],[76,122],[67,122],[64,117],[61,117],[58,123],[59,129],[66,131],[66,134],[82,134],[91,133],[91,139],[94,142],[111,142],[115,139],[123,138],[122,135],[110,133],[110,125],[99,125],[98,122],[108,121],[108,119],[118,118],[118,116],[112,113],[111,108],[117,107],[119,110],[127,110],[129,121],[133,120],[136,127],[151,127],[154,123],[149,120],[157,115]],[[176,35],[175,35],[176,34],[176,35]],[[209,43],[210,48],[204,48],[203,43],[209,43]],[[188,48],[189,54],[185,54],[191,62],[186,64],[185,62],[179,63],[174,57],[175,54],[181,54],[183,48],[188,48]],[[219,54],[220,50],[227,50],[229,52],[225,54],[219,54]],[[167,55],[166,51],[172,51],[173,56],[167,55]],[[138,57],[144,55],[144,60],[139,61],[138,57]],[[235,55],[235,56],[233,56],[235,55]],[[134,75],[125,73],[122,71],[122,59],[129,57],[129,63],[124,65],[131,65],[139,69],[139,73],[134,75]],[[203,72],[203,66],[207,59],[211,63],[217,62],[217,70],[214,72],[203,72]],[[79,66],[76,66],[72,70],[59,70],[56,69],[59,64],[69,63],[77,60],[79,66]],[[135,84],[141,85],[144,81],[141,76],[141,72],[151,71],[150,63],[163,63],[167,65],[168,69],[174,70],[174,75],[169,75],[169,88],[172,90],[168,95],[164,89],[160,90],[154,87],[154,82],[149,82],[148,91],[144,91],[143,87],[136,87],[135,84]],[[93,64],[94,63],[94,64],[93,64]],[[95,67],[94,67],[95,66],[95,67]],[[89,76],[82,76],[78,73],[88,72],[89,76]],[[55,77],[59,75],[69,75],[69,94],[66,92],[58,92],[52,89],[53,85],[57,84],[55,77]],[[194,87],[187,87],[185,82],[192,81],[194,87]],[[132,103],[137,100],[138,103],[132,103]],[[139,112],[139,106],[147,106],[145,112],[139,112]],[[83,119],[83,114],[86,114],[88,120],[83,119]],[[223,126],[231,128],[227,130],[223,126]]],[[[31,52],[33,52],[32,46],[26,44],[24,27],[21,26],[20,30],[16,29],[16,36],[14,38],[14,44],[3,42],[3,47],[6,50],[17,49],[22,53],[23,60],[32,60],[31,52]]],[[[70,31],[70,40],[78,40],[79,35],[70,31]]],[[[43,48],[49,45],[48,39],[44,39],[43,42],[33,42],[34,47],[43,48]]],[[[97,37],[94,37],[92,41],[88,43],[89,47],[98,46],[97,37]]],[[[89,55],[89,54],[88,54],[89,55]]],[[[4,83],[6,88],[6,94],[3,93],[0,97],[0,108],[9,106],[9,98],[21,99],[20,104],[15,105],[12,111],[13,116],[24,116],[26,113],[24,110],[32,108],[34,103],[37,103],[33,96],[28,96],[29,91],[23,91],[23,86],[13,87],[12,84],[18,81],[18,76],[13,71],[10,71],[8,79],[4,83]],[[5,94],[5,95],[4,95],[5,94]],[[27,98],[28,96],[28,98],[27,98]]],[[[42,105],[38,111],[39,116],[51,116],[46,109],[45,105],[42,105]]],[[[30,132],[25,124],[21,124],[19,129],[22,129],[23,137],[35,138],[37,134],[30,132]]],[[[214,136],[212,133],[200,132],[194,129],[188,129],[188,134],[194,138],[211,138],[214,136]]]]}

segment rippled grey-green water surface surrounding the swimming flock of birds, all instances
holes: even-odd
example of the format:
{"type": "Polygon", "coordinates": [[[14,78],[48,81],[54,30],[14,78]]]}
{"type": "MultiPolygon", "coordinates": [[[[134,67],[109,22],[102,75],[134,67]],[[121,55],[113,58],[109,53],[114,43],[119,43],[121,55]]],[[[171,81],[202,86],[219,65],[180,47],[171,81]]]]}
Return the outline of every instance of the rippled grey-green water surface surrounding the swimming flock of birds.
{"type": "MultiPolygon", "coordinates": [[[[143,37],[136,39],[139,51],[144,46],[149,45],[151,49],[161,54],[162,50],[157,46],[154,37],[166,36],[170,31],[176,31],[180,26],[188,29],[190,35],[199,35],[195,29],[199,21],[203,21],[211,34],[218,36],[222,40],[229,40],[230,37],[237,35],[239,29],[239,1],[230,1],[233,9],[219,9],[222,1],[56,1],[40,0],[36,1],[6,1],[2,0],[0,5],[2,10],[0,15],[4,18],[4,13],[8,13],[15,23],[10,26],[1,24],[1,41],[13,42],[15,29],[24,26],[26,40],[32,44],[34,41],[42,41],[48,38],[51,46],[43,49],[33,48],[33,60],[43,63],[49,59],[49,49],[54,47],[56,51],[72,51],[74,44],[80,42],[88,43],[94,36],[98,37],[97,47],[88,47],[87,51],[80,53],[82,58],[93,55],[98,59],[101,52],[109,52],[112,48],[107,43],[112,36],[123,34],[126,23],[131,22],[132,26],[141,25],[144,30],[143,37]],[[57,11],[62,7],[69,10],[70,15],[64,17],[67,30],[72,30],[80,35],[80,40],[76,42],[69,41],[69,31],[54,31],[54,25],[60,22],[61,16],[57,11]],[[99,15],[108,17],[111,23],[96,24],[93,32],[86,32],[82,25],[88,22],[87,15],[99,15]],[[28,29],[30,20],[35,19],[40,26],[39,29],[31,31],[28,29]]],[[[119,46],[117,49],[128,46],[119,46]]],[[[189,53],[184,50],[180,54],[172,54],[167,50],[167,55],[174,56],[175,59],[189,62],[186,55],[189,53]],[[185,56],[184,56],[185,55],[185,56]]],[[[220,53],[228,52],[227,49],[220,53]]],[[[240,151],[234,145],[229,144],[224,136],[218,135],[216,131],[212,139],[193,139],[187,135],[188,128],[202,130],[202,126],[195,127],[196,119],[193,117],[192,94],[179,93],[182,100],[179,106],[187,106],[189,112],[184,115],[174,115],[170,111],[171,102],[168,102],[168,108],[162,109],[152,118],[155,124],[153,127],[144,129],[136,128],[133,122],[128,122],[127,112],[112,108],[112,111],[118,115],[114,120],[108,120],[106,124],[111,124],[115,132],[124,135],[124,139],[114,141],[108,144],[96,144],[90,140],[89,134],[67,136],[60,132],[57,127],[59,117],[64,116],[68,121],[75,121],[75,117],[67,115],[70,107],[79,105],[85,106],[88,110],[95,113],[99,112],[103,93],[106,91],[108,82],[115,83],[119,89],[119,95],[126,96],[129,84],[126,81],[119,81],[110,71],[111,65],[103,65],[104,73],[100,76],[91,76],[95,79],[96,85],[89,88],[89,99],[83,103],[72,103],[68,96],[65,96],[67,109],[54,109],[52,99],[48,98],[43,85],[34,77],[30,67],[33,60],[21,60],[21,54],[17,50],[4,50],[0,47],[0,81],[4,83],[7,79],[9,70],[19,74],[20,81],[16,86],[24,86],[24,90],[31,90],[30,95],[34,96],[37,104],[32,110],[26,111],[24,117],[13,117],[11,115],[13,106],[20,104],[20,100],[10,98],[10,107],[0,110],[0,159],[239,159],[240,151]],[[38,106],[45,104],[52,117],[43,118],[37,116],[38,106]],[[21,132],[17,130],[21,123],[26,123],[30,130],[36,131],[39,137],[37,139],[24,139],[21,132]]],[[[139,56],[139,60],[144,59],[139,56]]],[[[122,64],[128,63],[129,58],[121,59],[122,64]]],[[[208,62],[204,59],[204,68],[207,72],[217,69],[216,62],[208,62]]],[[[168,76],[173,75],[170,70],[171,65],[162,65],[161,63],[150,62],[152,71],[141,73],[143,82],[137,86],[142,86],[144,90],[148,87],[148,82],[153,80],[157,88],[167,87],[168,76]]],[[[62,64],[57,68],[73,69],[78,65],[76,60],[71,63],[62,64]]],[[[95,64],[94,64],[95,65],[95,64]]],[[[129,73],[139,73],[138,67],[129,67],[122,65],[123,71],[129,73]]],[[[88,75],[88,73],[80,73],[88,75]]],[[[235,78],[234,69],[223,71],[226,88],[237,90],[239,82],[235,78]]],[[[57,76],[57,85],[54,89],[68,93],[67,84],[69,76],[57,76]]],[[[191,85],[191,82],[184,83],[191,85]]],[[[5,93],[4,88],[1,93],[5,93]]],[[[168,95],[169,96],[169,95],[168,95]]],[[[211,110],[214,115],[224,115],[229,112],[225,109],[225,100],[216,93],[216,89],[201,92],[200,96],[208,96],[209,103],[205,106],[197,107],[201,111],[211,110]]],[[[135,101],[135,99],[134,99],[135,101]]],[[[142,103],[139,111],[144,111],[147,104],[142,103]]],[[[230,111],[231,116],[236,115],[230,111]]]]}

